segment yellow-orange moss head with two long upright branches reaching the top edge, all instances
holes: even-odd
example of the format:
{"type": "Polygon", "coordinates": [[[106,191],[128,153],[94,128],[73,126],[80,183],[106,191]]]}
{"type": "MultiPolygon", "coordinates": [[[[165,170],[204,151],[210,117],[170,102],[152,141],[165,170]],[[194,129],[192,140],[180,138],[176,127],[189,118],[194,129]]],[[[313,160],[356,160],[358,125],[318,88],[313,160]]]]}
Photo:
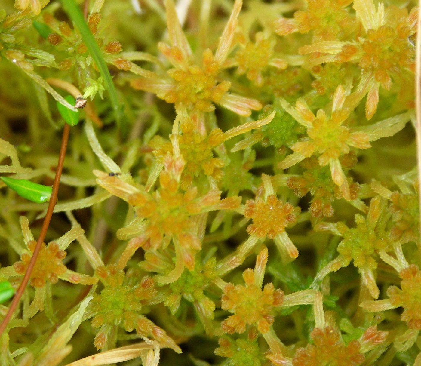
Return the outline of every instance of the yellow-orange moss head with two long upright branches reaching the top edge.
{"type": "Polygon", "coordinates": [[[155,93],[160,99],[174,103],[176,110],[211,112],[219,104],[233,112],[249,116],[251,110],[261,109],[255,99],[230,94],[231,82],[218,80],[218,72],[228,56],[242,2],[237,0],[226,28],[220,38],[215,56],[209,49],[203,52],[202,66],[190,63],[192,53],[182,32],[173,3],[167,3],[167,25],[171,45],[160,43],[159,48],[173,64],[168,77],[151,74],[145,79],[132,80],[133,88],[155,93]]]}

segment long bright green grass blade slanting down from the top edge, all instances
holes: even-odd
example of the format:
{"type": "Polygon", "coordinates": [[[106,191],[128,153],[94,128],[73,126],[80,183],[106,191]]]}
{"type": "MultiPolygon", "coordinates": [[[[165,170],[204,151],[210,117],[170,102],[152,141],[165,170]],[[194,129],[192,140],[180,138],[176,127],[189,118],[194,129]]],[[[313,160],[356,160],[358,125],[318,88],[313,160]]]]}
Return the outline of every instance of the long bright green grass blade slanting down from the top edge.
{"type": "Polygon", "coordinates": [[[83,41],[85,42],[86,47],[88,48],[89,53],[92,56],[93,61],[95,61],[96,66],[99,69],[105,87],[108,90],[109,97],[111,99],[111,104],[114,109],[115,118],[117,123],[120,124],[120,128],[124,129],[124,126],[121,126],[123,123],[122,113],[123,106],[120,104],[117,98],[117,91],[115,90],[114,83],[112,82],[111,75],[109,75],[107,64],[105,63],[104,58],[102,57],[101,50],[99,49],[98,44],[95,41],[91,31],[86,24],[83,14],[80,11],[80,8],[77,6],[74,0],[60,0],[63,8],[66,10],[69,18],[75,24],[75,27],[79,30],[80,35],[82,35],[83,41]]]}

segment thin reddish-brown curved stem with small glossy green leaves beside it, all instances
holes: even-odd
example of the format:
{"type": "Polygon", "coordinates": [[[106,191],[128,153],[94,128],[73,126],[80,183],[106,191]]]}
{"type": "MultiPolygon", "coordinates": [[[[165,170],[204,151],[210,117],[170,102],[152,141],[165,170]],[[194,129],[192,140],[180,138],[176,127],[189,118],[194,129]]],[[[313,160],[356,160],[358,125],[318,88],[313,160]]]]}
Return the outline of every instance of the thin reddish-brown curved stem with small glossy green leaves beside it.
{"type": "Polygon", "coordinates": [[[64,157],[66,155],[67,142],[69,140],[69,131],[70,131],[70,126],[67,123],[65,123],[64,128],[63,128],[63,136],[61,138],[59,161],[57,163],[56,176],[54,177],[53,191],[51,192],[51,198],[50,198],[50,202],[48,203],[47,213],[45,214],[43,226],[41,227],[40,236],[38,237],[37,244],[35,245],[34,253],[32,254],[32,258],[28,264],[28,268],[25,272],[24,278],[22,279],[22,282],[19,285],[19,288],[16,291],[15,296],[13,297],[13,300],[9,306],[9,310],[6,316],[3,318],[3,321],[0,324],[0,337],[2,336],[6,327],[8,326],[8,323],[11,320],[12,315],[14,311],[16,310],[16,307],[18,306],[19,301],[25,291],[25,288],[29,282],[29,278],[32,273],[32,269],[35,266],[35,262],[37,261],[38,254],[40,253],[41,246],[44,242],[45,235],[47,234],[48,226],[50,225],[50,221],[51,221],[51,216],[53,216],[54,206],[56,206],[56,202],[57,202],[57,193],[59,192],[61,171],[63,170],[64,157]]]}

